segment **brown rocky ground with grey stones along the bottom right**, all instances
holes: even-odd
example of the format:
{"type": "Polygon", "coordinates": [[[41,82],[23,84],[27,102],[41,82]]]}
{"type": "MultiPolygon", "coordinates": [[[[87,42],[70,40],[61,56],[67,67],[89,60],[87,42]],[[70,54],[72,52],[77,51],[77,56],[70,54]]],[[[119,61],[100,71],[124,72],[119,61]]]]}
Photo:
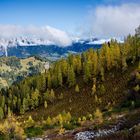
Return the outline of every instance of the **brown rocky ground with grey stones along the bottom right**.
{"type": "Polygon", "coordinates": [[[103,125],[99,129],[89,126],[80,127],[74,130],[66,131],[62,135],[54,133],[42,136],[42,138],[27,138],[27,140],[94,140],[95,138],[110,136],[125,129],[127,129],[129,133],[132,133],[136,126],[140,126],[140,119],[137,119],[136,117],[135,120],[134,117],[139,115],[139,111],[133,111],[131,113],[127,113],[127,115],[128,114],[131,117],[133,116],[133,121],[130,121],[130,118],[126,115],[119,115],[118,120],[114,122],[114,124],[103,125]]]}

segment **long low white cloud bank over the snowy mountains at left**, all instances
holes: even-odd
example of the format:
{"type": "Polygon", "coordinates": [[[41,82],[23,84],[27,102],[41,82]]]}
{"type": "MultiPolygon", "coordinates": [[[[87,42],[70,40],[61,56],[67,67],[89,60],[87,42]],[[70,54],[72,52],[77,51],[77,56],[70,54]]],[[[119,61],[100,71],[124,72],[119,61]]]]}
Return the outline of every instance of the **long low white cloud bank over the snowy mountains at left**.
{"type": "Polygon", "coordinates": [[[46,39],[59,46],[68,46],[72,43],[71,38],[66,32],[50,26],[23,27],[18,25],[0,25],[1,38],[14,38],[21,36],[46,39]]]}

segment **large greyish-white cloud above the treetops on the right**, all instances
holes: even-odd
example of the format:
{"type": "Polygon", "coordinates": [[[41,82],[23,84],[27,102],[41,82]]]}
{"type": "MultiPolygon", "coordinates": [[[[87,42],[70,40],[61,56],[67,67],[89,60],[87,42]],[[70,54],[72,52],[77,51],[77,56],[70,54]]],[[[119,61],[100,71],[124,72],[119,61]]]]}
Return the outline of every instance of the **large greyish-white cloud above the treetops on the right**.
{"type": "Polygon", "coordinates": [[[124,37],[140,25],[140,4],[99,6],[90,11],[89,33],[97,37],[124,37]]]}

